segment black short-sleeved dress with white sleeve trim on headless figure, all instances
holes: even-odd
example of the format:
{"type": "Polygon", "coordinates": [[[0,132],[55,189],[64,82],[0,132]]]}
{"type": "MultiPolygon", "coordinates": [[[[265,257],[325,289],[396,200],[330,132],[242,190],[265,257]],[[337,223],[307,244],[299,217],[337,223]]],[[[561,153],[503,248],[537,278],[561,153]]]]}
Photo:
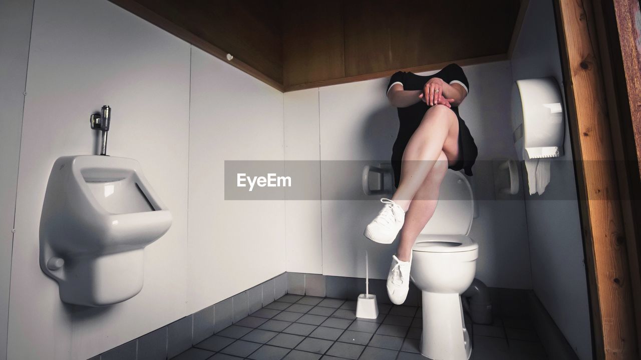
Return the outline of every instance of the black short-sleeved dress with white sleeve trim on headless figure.
{"type": "MultiPolygon", "coordinates": [[[[428,76],[420,76],[412,72],[396,72],[392,75],[392,78],[390,78],[387,91],[389,92],[394,84],[403,85],[403,90],[423,90],[423,86],[431,78],[443,79],[445,83],[450,85],[458,83],[462,85],[465,90],[469,91],[469,83],[465,77],[465,73],[463,73],[463,69],[455,63],[451,63],[439,72],[428,76]]],[[[419,101],[406,108],[398,108],[399,133],[396,136],[396,141],[392,148],[392,168],[394,169],[394,184],[396,186],[398,186],[401,180],[401,160],[403,159],[405,147],[410,141],[414,131],[419,127],[423,115],[425,115],[430,107],[426,102],[419,101]]],[[[467,176],[472,176],[472,165],[474,165],[474,161],[476,160],[478,148],[476,147],[476,143],[474,143],[474,138],[472,138],[470,130],[465,126],[465,121],[458,115],[458,107],[452,106],[451,109],[458,118],[458,151],[460,160],[456,161],[454,165],[449,166],[449,168],[452,170],[463,169],[467,176]]]]}

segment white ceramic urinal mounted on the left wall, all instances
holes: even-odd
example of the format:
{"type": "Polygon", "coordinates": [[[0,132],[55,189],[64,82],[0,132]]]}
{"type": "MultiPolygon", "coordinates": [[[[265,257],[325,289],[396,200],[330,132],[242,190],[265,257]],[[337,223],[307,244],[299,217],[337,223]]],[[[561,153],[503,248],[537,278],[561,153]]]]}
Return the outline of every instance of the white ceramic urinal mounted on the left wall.
{"type": "Polygon", "coordinates": [[[171,213],[138,161],[63,156],[53,165],[40,218],[40,268],[69,304],[106,306],[142,290],[144,248],[171,213]]]}

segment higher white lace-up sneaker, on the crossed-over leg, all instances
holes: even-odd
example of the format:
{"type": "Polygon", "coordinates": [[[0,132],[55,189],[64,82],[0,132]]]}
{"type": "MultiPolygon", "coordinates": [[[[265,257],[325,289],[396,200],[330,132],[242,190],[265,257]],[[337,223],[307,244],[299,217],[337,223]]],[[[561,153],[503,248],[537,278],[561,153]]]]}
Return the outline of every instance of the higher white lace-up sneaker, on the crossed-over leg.
{"type": "Polygon", "coordinates": [[[405,211],[390,199],[381,199],[385,204],[376,218],[365,227],[365,237],[377,243],[392,243],[405,222],[405,211]]]}

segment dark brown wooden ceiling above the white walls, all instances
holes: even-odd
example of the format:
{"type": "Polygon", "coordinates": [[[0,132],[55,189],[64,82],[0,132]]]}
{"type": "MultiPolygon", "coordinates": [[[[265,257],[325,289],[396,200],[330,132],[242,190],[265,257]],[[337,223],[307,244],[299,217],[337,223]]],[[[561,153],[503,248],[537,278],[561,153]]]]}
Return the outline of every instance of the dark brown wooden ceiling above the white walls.
{"type": "Polygon", "coordinates": [[[527,1],[110,0],[281,91],[508,58],[527,1]],[[519,11],[519,8],[520,11],[519,11]]]}

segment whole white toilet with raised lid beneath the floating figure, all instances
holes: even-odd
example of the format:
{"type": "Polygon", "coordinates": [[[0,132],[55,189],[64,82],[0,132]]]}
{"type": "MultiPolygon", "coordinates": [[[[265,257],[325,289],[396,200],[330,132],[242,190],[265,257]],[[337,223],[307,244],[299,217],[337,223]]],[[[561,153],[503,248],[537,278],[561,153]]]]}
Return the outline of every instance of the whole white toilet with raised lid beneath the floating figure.
{"type": "Polygon", "coordinates": [[[467,360],[472,354],[461,294],[476,273],[478,244],[468,234],[474,218],[472,188],[448,170],[437,209],[412,248],[410,279],[422,292],[420,353],[433,360],[467,360]]]}

